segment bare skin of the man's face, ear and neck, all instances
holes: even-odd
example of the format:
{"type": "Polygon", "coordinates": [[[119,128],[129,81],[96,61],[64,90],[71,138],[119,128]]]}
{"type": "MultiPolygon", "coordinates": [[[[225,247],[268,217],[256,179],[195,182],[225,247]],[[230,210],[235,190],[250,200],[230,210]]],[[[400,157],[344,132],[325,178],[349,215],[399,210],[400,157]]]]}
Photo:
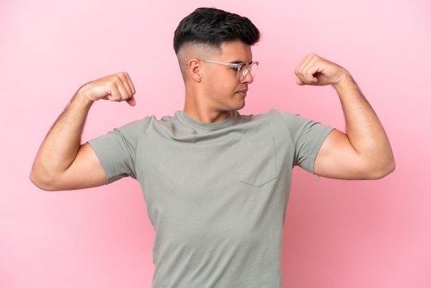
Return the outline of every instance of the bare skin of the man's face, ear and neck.
{"type": "Polygon", "coordinates": [[[185,72],[185,107],[184,111],[201,122],[220,122],[231,115],[231,111],[240,110],[245,105],[248,85],[253,83],[253,76],[247,74],[244,81],[238,81],[237,69],[226,65],[207,63],[203,60],[222,63],[240,63],[252,61],[250,45],[240,41],[223,43],[220,50],[213,49],[203,55],[199,46],[194,53],[188,52],[187,71],[185,72]]]}

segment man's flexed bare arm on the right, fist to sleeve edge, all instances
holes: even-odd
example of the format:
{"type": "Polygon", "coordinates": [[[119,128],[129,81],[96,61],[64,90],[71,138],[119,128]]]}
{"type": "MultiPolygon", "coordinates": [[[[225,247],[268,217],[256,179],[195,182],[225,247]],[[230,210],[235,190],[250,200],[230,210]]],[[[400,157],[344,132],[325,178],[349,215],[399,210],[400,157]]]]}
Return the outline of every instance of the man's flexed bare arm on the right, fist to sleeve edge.
{"type": "Polygon", "coordinates": [[[339,65],[310,54],[295,70],[299,85],[333,85],[346,119],[346,133],[330,132],[315,160],[315,174],[377,179],[395,169],[392,149],[377,114],[353,77],[339,65]]]}

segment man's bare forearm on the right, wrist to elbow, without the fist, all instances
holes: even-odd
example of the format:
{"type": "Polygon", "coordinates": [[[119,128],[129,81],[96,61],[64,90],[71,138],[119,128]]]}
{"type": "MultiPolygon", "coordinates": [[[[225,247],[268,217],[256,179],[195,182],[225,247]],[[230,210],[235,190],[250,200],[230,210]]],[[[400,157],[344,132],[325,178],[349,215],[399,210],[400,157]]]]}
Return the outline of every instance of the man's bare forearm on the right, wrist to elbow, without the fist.
{"type": "Polygon", "coordinates": [[[392,172],[395,161],[388,136],[352,76],[346,74],[333,87],[344,111],[346,134],[364,165],[370,173],[377,173],[376,175],[392,172]]]}

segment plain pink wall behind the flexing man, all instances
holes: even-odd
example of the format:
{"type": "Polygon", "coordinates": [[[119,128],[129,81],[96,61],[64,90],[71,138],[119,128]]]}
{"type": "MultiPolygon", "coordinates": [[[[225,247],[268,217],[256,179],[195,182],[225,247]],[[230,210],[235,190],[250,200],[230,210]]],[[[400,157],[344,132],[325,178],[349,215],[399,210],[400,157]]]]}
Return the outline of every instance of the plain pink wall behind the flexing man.
{"type": "Polygon", "coordinates": [[[138,183],[43,192],[28,175],[87,81],[127,71],[138,104],[97,103],[84,139],[181,110],[172,36],[199,6],[245,15],[262,32],[244,113],[274,107],[343,129],[331,88],[295,85],[296,64],[316,52],[350,70],[392,142],[397,169],[380,181],[317,184],[295,169],[284,287],[431,287],[429,0],[145,2],[1,0],[0,287],[150,287],[154,231],[138,183]]]}

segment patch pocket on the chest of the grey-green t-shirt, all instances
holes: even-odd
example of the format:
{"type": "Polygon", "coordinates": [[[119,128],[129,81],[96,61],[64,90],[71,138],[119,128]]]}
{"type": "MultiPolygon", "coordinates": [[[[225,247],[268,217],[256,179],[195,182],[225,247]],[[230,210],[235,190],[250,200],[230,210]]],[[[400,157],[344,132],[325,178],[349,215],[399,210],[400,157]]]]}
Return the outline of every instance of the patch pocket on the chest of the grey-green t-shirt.
{"type": "Polygon", "coordinates": [[[273,138],[242,143],[238,155],[241,182],[261,187],[277,178],[273,138]]]}

